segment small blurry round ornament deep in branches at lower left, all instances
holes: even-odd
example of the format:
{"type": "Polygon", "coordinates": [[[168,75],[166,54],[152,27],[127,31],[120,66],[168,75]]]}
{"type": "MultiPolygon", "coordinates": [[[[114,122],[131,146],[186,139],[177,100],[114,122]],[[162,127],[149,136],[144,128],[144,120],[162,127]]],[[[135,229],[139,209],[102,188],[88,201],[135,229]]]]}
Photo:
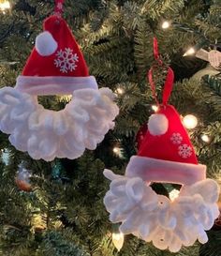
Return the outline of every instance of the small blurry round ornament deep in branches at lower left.
{"type": "Polygon", "coordinates": [[[15,178],[15,183],[22,191],[30,192],[32,190],[32,185],[30,183],[31,173],[23,167],[22,164],[19,165],[19,170],[15,178]]]}

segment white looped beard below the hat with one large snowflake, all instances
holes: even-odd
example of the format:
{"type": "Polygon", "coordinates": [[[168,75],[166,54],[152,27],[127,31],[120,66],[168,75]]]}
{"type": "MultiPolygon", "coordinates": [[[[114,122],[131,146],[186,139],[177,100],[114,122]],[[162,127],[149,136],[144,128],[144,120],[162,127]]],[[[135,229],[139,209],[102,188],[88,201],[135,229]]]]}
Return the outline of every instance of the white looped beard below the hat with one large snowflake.
{"type": "Polygon", "coordinates": [[[14,88],[0,90],[0,129],[18,150],[35,159],[79,158],[102,142],[119,113],[109,88],[73,92],[62,111],[46,110],[37,97],[14,88]]]}

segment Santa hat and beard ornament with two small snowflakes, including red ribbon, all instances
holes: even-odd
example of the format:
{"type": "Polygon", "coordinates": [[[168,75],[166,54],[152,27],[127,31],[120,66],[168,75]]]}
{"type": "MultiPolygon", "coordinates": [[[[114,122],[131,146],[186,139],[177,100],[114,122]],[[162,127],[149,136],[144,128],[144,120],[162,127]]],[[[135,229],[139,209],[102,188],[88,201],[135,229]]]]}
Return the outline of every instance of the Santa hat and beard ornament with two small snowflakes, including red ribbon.
{"type": "MultiPolygon", "coordinates": [[[[162,64],[154,40],[155,58],[162,64]]],[[[168,104],[173,83],[173,71],[168,75],[162,103],[155,96],[153,68],[149,81],[158,106],[148,121],[148,130],[137,156],[130,158],[125,175],[105,170],[111,180],[104,203],[113,223],[121,222],[120,232],[133,233],[156,248],[179,251],[184,246],[208,240],[219,210],[216,204],[219,188],[206,178],[206,166],[199,164],[180,114],[168,104]],[[158,195],[151,183],[182,185],[179,193],[158,195]]]]}

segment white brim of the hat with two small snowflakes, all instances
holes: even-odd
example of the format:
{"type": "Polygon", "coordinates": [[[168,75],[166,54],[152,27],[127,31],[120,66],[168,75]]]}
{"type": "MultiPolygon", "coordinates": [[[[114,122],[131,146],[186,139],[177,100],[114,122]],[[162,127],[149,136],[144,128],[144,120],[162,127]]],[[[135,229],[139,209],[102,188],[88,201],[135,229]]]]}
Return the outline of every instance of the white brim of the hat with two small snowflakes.
{"type": "Polygon", "coordinates": [[[140,177],[146,182],[191,185],[206,178],[206,166],[134,156],[130,158],[125,175],[140,177]]]}

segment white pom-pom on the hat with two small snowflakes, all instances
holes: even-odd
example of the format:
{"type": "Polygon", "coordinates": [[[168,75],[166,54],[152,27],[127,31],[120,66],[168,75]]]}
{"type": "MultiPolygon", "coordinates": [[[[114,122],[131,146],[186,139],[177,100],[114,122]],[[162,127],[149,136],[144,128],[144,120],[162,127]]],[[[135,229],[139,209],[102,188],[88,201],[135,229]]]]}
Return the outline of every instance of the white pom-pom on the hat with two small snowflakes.
{"type": "Polygon", "coordinates": [[[168,131],[169,121],[165,114],[154,113],[148,121],[148,129],[152,135],[163,135],[168,131]]]}

